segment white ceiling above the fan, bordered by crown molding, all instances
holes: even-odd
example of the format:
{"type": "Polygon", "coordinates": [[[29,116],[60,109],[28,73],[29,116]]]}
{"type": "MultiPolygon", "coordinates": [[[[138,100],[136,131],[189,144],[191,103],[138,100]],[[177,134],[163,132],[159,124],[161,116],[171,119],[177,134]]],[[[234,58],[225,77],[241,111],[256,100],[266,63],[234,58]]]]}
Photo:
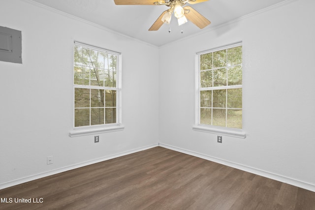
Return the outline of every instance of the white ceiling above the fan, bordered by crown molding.
{"type": "MultiPolygon", "coordinates": [[[[174,40],[198,33],[198,27],[188,22],[182,28],[172,17],[171,24],[163,24],[158,31],[148,31],[165,5],[116,5],[114,0],[33,0],[70,15],[85,19],[110,30],[133,38],[162,46],[174,40]],[[171,32],[168,32],[168,28],[171,32]]],[[[132,0],[130,0],[132,1],[132,0]]],[[[209,0],[191,4],[195,10],[212,23],[203,30],[210,30],[222,23],[234,20],[284,0],[209,0]]]]}

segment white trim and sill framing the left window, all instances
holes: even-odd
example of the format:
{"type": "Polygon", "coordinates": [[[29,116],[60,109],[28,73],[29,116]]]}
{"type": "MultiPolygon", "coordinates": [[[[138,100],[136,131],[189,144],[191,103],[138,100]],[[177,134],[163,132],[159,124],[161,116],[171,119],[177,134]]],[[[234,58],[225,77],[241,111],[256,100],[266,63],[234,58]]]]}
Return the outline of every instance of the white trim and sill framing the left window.
{"type": "MultiPolygon", "coordinates": [[[[106,49],[103,48],[99,48],[99,47],[95,47],[93,45],[88,45],[82,42],[77,42],[74,41],[74,43],[77,44],[81,44],[83,46],[87,46],[91,49],[96,49],[96,50],[105,50],[107,52],[110,53],[117,53],[115,51],[108,51],[106,49]]],[[[117,70],[117,74],[118,74],[118,80],[117,80],[117,87],[118,87],[118,94],[117,94],[117,101],[119,101],[118,103],[118,116],[117,116],[117,120],[118,123],[115,124],[104,124],[104,125],[92,125],[92,126],[83,126],[83,127],[74,127],[74,123],[73,123],[73,129],[69,132],[69,136],[70,137],[77,137],[77,136],[86,136],[86,135],[94,135],[94,134],[100,134],[100,133],[108,133],[108,132],[115,132],[115,131],[122,131],[124,130],[125,126],[122,124],[122,54],[121,53],[117,53],[119,54],[119,68],[117,70]]],[[[72,84],[74,84],[74,77],[72,77],[72,84]]],[[[76,86],[73,85],[73,87],[75,88],[76,86]]],[[[73,91],[74,91],[73,88],[73,91]]],[[[91,87],[90,87],[91,88],[91,87]]],[[[110,88],[109,88],[110,89],[110,88]]],[[[73,103],[74,104],[74,93],[72,93],[73,95],[73,103]]],[[[72,116],[72,120],[74,120],[74,106],[72,107],[73,110],[73,116],[72,116]]]]}

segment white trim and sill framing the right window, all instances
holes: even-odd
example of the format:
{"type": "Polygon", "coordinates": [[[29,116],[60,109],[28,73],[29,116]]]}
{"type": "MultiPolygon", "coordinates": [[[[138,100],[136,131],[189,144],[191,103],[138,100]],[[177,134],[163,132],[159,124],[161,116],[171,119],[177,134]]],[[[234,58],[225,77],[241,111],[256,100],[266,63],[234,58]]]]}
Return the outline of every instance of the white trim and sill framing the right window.
{"type": "MultiPolygon", "coordinates": [[[[195,55],[195,125],[192,126],[192,130],[194,131],[201,131],[201,132],[207,132],[207,133],[213,133],[213,134],[219,134],[224,136],[231,136],[231,137],[237,137],[237,138],[246,138],[246,133],[243,131],[243,129],[238,128],[228,128],[228,127],[219,127],[214,125],[203,125],[199,124],[199,103],[200,103],[200,96],[199,96],[199,55],[205,54],[207,52],[215,50],[222,50],[226,49],[226,47],[237,47],[242,46],[242,42],[236,42],[229,45],[225,45],[219,48],[213,48],[211,50],[198,52],[195,55]]],[[[233,88],[233,87],[230,87],[233,88]]],[[[236,87],[235,87],[236,88],[236,87]]]]}

